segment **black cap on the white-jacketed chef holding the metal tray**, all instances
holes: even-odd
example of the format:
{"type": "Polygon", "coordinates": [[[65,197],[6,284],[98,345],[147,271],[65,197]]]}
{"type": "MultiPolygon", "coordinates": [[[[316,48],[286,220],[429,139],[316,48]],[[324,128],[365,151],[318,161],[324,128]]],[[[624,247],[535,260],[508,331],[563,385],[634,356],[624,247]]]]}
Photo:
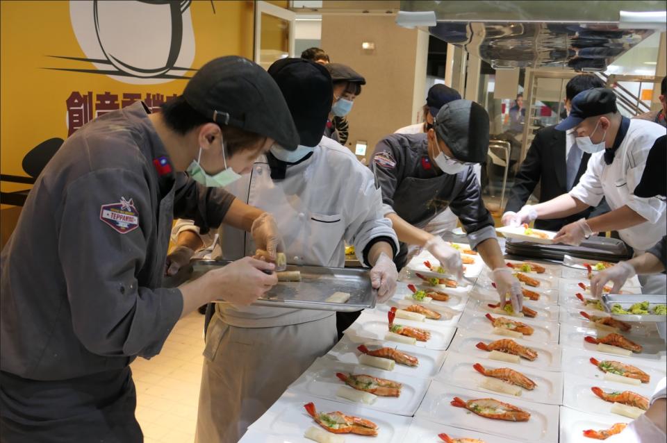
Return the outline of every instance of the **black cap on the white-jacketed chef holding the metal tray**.
{"type": "Polygon", "coordinates": [[[324,135],[334,86],[327,68],[304,58],[281,58],[268,69],[283,92],[299,132],[299,144],[317,146],[324,135]]]}

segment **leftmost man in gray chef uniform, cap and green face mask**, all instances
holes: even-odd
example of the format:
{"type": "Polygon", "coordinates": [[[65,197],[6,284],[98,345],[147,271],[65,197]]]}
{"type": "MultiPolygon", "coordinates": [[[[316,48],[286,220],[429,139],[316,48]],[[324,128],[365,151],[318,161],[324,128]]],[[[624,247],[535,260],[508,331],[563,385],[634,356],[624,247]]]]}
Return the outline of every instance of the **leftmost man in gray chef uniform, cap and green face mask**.
{"type": "Polygon", "coordinates": [[[2,251],[3,442],[143,441],[130,362],[201,304],[249,304],[277,283],[244,258],[161,287],[174,214],[252,228],[275,250],[274,219],[215,187],[298,140],[276,83],[240,57],[208,62],[163,112],[138,102],[69,137],[2,251]]]}

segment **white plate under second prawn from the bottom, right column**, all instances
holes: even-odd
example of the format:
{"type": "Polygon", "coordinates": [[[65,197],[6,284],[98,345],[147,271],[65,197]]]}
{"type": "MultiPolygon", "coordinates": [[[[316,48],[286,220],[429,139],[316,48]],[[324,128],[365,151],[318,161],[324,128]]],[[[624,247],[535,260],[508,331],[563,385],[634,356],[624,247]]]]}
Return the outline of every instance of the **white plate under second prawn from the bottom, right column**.
{"type": "Polygon", "coordinates": [[[593,394],[591,387],[601,387],[604,392],[632,391],[645,396],[649,400],[653,395],[653,390],[648,387],[629,386],[604,380],[594,381],[570,372],[566,372],[563,376],[563,386],[563,406],[590,412],[591,414],[611,415],[612,417],[623,417],[623,415],[612,413],[611,406],[614,406],[614,403],[600,399],[593,394]]]}

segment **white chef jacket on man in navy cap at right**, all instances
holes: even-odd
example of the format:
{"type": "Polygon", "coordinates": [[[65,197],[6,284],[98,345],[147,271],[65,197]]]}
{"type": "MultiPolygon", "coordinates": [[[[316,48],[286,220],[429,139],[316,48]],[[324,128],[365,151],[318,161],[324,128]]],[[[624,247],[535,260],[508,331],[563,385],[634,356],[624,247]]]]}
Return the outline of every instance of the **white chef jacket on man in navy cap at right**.
{"type": "Polygon", "coordinates": [[[604,162],[604,151],[594,153],[588,168],[570,195],[588,206],[598,206],[602,197],[612,210],[628,206],[647,222],[620,229],[618,234],[635,251],[645,251],[667,233],[666,204],[657,197],[642,199],[634,195],[641,180],[646,157],[655,139],[665,135],[665,128],[646,120],[631,119],[623,142],[616,150],[614,162],[604,162]]]}

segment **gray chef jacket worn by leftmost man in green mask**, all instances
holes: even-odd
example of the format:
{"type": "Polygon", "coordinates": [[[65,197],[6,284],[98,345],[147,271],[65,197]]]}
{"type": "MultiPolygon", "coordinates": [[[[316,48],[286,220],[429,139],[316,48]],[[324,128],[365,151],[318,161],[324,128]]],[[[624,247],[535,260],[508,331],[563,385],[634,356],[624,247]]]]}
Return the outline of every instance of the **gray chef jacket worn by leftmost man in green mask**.
{"type": "Polygon", "coordinates": [[[161,288],[172,219],[208,231],[233,196],[174,174],[143,103],[63,144],[2,250],[2,371],[65,380],[150,358],[183,309],[161,288]]]}

